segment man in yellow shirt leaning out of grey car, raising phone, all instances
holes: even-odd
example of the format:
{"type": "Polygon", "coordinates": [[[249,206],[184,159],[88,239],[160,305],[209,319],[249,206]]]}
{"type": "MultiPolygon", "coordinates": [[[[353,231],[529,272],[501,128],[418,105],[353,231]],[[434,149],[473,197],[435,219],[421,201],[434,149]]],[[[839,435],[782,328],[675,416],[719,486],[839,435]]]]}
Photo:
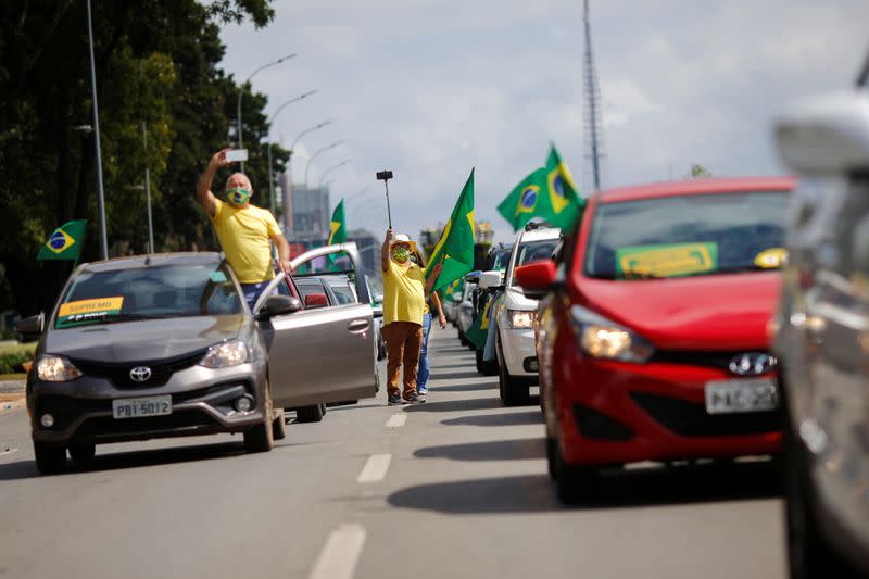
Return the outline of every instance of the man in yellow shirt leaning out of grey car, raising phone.
{"type": "Polygon", "coordinates": [[[251,205],[253,187],[247,175],[234,173],[229,176],[226,201],[217,199],[211,191],[217,169],[230,163],[226,160],[228,150],[218,151],[211,158],[199,177],[197,198],[211,217],[226,260],[241,282],[244,299],[253,309],[265,286],[275,277],[269,240],[278,250],[278,267],[286,274],[290,273],[290,246],[272,212],[251,205]]]}

